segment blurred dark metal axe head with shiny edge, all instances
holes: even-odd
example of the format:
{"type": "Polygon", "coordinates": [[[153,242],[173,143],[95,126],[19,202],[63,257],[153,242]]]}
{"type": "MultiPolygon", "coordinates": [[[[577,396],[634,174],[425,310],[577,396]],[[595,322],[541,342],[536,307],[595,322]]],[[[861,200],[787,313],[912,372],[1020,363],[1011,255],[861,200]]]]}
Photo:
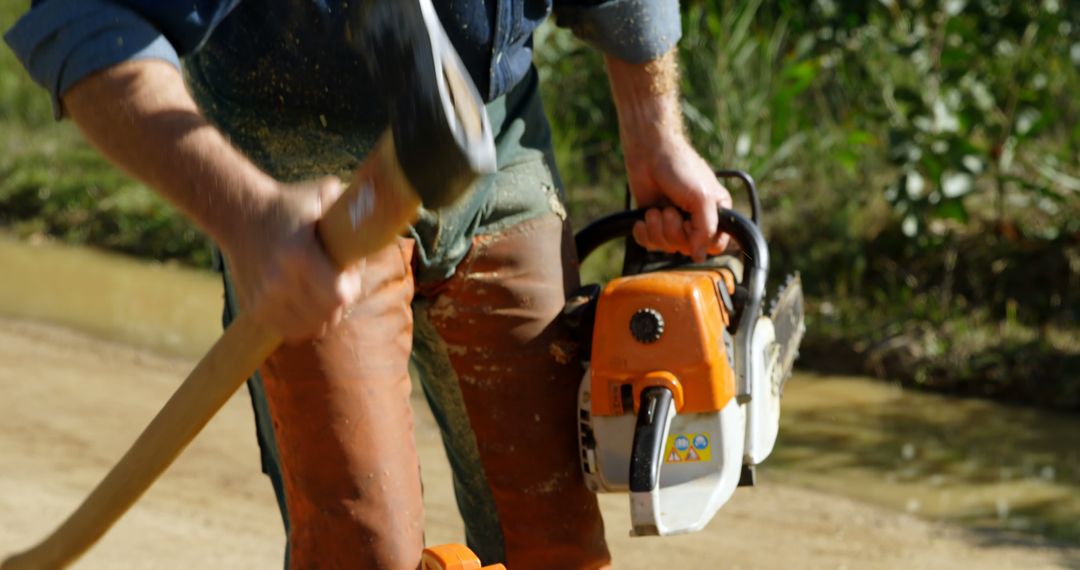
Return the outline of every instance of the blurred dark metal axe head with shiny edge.
{"type": "Polygon", "coordinates": [[[359,0],[348,10],[350,41],[382,85],[402,172],[424,207],[451,204],[495,172],[495,140],[431,0],[359,0]]]}

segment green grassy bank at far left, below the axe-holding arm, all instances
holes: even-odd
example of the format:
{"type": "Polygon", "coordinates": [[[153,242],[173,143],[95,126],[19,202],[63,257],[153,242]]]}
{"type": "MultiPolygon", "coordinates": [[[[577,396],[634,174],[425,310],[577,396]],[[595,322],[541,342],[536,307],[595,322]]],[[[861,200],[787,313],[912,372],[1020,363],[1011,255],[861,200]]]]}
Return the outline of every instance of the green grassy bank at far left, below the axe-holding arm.
{"type": "MultiPolygon", "coordinates": [[[[0,0],[0,29],[26,4],[0,0]]],[[[57,123],[49,95],[6,45],[0,48],[0,229],[210,266],[206,239],[109,165],[70,123],[57,123]]]]}

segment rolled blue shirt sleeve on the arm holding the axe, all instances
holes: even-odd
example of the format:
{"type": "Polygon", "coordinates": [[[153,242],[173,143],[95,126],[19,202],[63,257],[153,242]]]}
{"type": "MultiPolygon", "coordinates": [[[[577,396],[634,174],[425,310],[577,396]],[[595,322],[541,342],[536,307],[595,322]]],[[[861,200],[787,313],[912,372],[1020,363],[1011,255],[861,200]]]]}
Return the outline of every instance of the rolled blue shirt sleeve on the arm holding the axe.
{"type": "Polygon", "coordinates": [[[179,68],[179,56],[198,49],[235,2],[129,4],[40,1],[4,35],[30,77],[52,94],[57,119],[60,97],[95,71],[136,59],[162,59],[179,68]]]}

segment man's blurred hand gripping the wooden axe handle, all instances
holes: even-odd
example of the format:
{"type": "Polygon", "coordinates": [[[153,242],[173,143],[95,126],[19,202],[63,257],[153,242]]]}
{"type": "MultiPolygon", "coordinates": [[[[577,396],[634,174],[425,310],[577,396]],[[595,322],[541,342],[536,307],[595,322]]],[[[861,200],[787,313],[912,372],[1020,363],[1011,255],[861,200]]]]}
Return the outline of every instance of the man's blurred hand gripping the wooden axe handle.
{"type": "Polygon", "coordinates": [[[362,266],[336,268],[315,232],[341,192],[334,177],[279,185],[222,244],[241,307],[286,342],[325,335],[361,295],[362,266]]]}

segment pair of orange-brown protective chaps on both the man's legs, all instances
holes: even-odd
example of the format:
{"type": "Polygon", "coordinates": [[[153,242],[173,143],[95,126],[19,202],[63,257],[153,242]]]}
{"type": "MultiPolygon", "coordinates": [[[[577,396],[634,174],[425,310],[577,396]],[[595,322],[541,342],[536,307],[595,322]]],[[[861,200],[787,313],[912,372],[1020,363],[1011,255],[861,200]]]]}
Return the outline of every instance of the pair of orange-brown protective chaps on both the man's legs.
{"type": "Polygon", "coordinates": [[[414,337],[484,562],[605,567],[599,510],[577,459],[582,371],[556,321],[578,280],[567,227],[548,215],[477,236],[457,273],[431,289],[415,290],[411,258],[404,239],[368,258],[364,297],[340,326],[281,348],[261,369],[292,568],[419,566],[414,337]]]}

